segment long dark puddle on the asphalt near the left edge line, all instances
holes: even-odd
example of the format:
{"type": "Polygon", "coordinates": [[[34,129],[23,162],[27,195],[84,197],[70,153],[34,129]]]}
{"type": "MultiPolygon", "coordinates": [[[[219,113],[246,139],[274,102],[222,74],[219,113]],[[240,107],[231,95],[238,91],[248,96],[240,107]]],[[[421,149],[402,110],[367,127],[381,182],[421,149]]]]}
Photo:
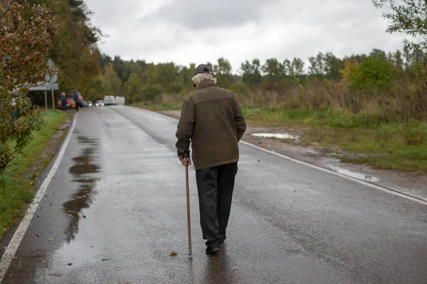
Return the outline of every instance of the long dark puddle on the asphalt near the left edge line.
{"type": "Polygon", "coordinates": [[[66,240],[69,243],[75,238],[78,233],[78,222],[80,218],[85,218],[81,213],[83,209],[89,208],[93,202],[93,195],[97,192],[95,190],[97,178],[93,177],[94,173],[98,173],[100,166],[95,164],[95,151],[97,147],[97,140],[87,138],[85,136],[78,136],[78,141],[85,146],[81,155],[73,158],[75,165],[71,166],[68,170],[73,175],[73,182],[78,182],[78,191],[73,195],[73,200],[69,200],[63,204],[63,210],[70,217],[70,224],[65,230],[66,240]]]}

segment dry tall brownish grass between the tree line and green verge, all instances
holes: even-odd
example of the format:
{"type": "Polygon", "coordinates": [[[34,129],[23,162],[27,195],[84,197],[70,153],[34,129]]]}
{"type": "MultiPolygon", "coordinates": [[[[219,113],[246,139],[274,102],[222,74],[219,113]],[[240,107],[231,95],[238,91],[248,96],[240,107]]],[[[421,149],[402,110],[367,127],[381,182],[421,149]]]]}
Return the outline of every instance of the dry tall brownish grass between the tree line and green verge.
{"type": "MultiPolygon", "coordinates": [[[[292,109],[337,108],[378,121],[426,121],[427,86],[425,82],[395,81],[389,91],[350,90],[345,82],[314,81],[305,87],[288,84],[278,88],[258,86],[233,87],[241,104],[247,108],[273,111],[292,109]]],[[[155,104],[176,104],[188,94],[162,94],[155,104]]]]}

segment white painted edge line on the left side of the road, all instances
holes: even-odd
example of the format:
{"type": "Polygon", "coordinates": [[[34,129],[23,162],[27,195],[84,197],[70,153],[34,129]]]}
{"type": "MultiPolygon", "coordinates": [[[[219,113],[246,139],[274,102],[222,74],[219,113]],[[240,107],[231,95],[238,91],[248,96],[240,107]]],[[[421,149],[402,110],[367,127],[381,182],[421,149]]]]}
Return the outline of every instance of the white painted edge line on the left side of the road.
{"type": "Polygon", "coordinates": [[[56,170],[58,170],[58,166],[63,159],[63,155],[65,154],[65,149],[67,148],[68,143],[70,142],[71,135],[73,135],[77,117],[78,113],[76,113],[73,117],[73,122],[71,123],[70,129],[67,133],[67,137],[65,138],[65,141],[60,148],[58,156],[56,157],[55,163],[53,163],[51,170],[49,171],[46,178],[43,180],[43,183],[39,187],[36,195],[34,195],[33,202],[31,202],[30,206],[27,209],[28,214],[23,217],[21,224],[19,224],[18,229],[16,229],[15,231],[14,236],[12,237],[11,241],[9,241],[9,245],[7,246],[6,251],[4,251],[3,257],[0,260],[0,283],[1,281],[3,281],[6,272],[9,270],[9,266],[11,265],[15,253],[18,250],[19,245],[21,244],[23,236],[25,235],[28,226],[31,223],[31,220],[33,219],[34,214],[36,213],[38,204],[40,204],[43,195],[46,193],[46,190],[49,184],[51,183],[53,176],[56,174],[56,170]]]}

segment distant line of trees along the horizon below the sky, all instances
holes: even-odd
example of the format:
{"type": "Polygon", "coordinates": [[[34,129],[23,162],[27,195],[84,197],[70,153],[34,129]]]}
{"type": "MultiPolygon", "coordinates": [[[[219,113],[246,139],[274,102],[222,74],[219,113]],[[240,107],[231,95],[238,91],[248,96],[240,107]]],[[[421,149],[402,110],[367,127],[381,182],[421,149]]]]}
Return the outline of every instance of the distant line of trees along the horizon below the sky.
{"type": "MultiPolygon", "coordinates": [[[[226,58],[218,58],[210,65],[216,73],[220,87],[238,94],[278,92],[285,96],[290,88],[302,89],[314,84],[345,84],[349,92],[371,92],[389,95],[393,82],[421,80],[426,74],[426,53],[421,49],[396,50],[386,53],[374,49],[369,54],[338,58],[332,53],[318,53],[304,61],[300,58],[280,61],[270,58],[261,63],[258,59],[241,63],[238,74],[226,58]]],[[[191,77],[196,65],[176,65],[174,62],[147,63],[144,60],[122,60],[100,56],[102,73],[88,84],[86,96],[91,99],[107,94],[124,94],[127,101],[150,102],[162,94],[185,95],[192,92],[191,77]]]]}

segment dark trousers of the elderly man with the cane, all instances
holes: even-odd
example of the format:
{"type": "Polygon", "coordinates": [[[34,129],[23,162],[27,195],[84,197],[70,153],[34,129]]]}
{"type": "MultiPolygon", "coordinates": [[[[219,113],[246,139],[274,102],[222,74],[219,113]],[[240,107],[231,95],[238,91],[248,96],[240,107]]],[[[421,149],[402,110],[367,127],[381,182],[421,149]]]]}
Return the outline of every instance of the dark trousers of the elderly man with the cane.
{"type": "Polygon", "coordinates": [[[206,246],[219,247],[226,238],[237,163],[196,170],[200,224],[206,246]]]}

